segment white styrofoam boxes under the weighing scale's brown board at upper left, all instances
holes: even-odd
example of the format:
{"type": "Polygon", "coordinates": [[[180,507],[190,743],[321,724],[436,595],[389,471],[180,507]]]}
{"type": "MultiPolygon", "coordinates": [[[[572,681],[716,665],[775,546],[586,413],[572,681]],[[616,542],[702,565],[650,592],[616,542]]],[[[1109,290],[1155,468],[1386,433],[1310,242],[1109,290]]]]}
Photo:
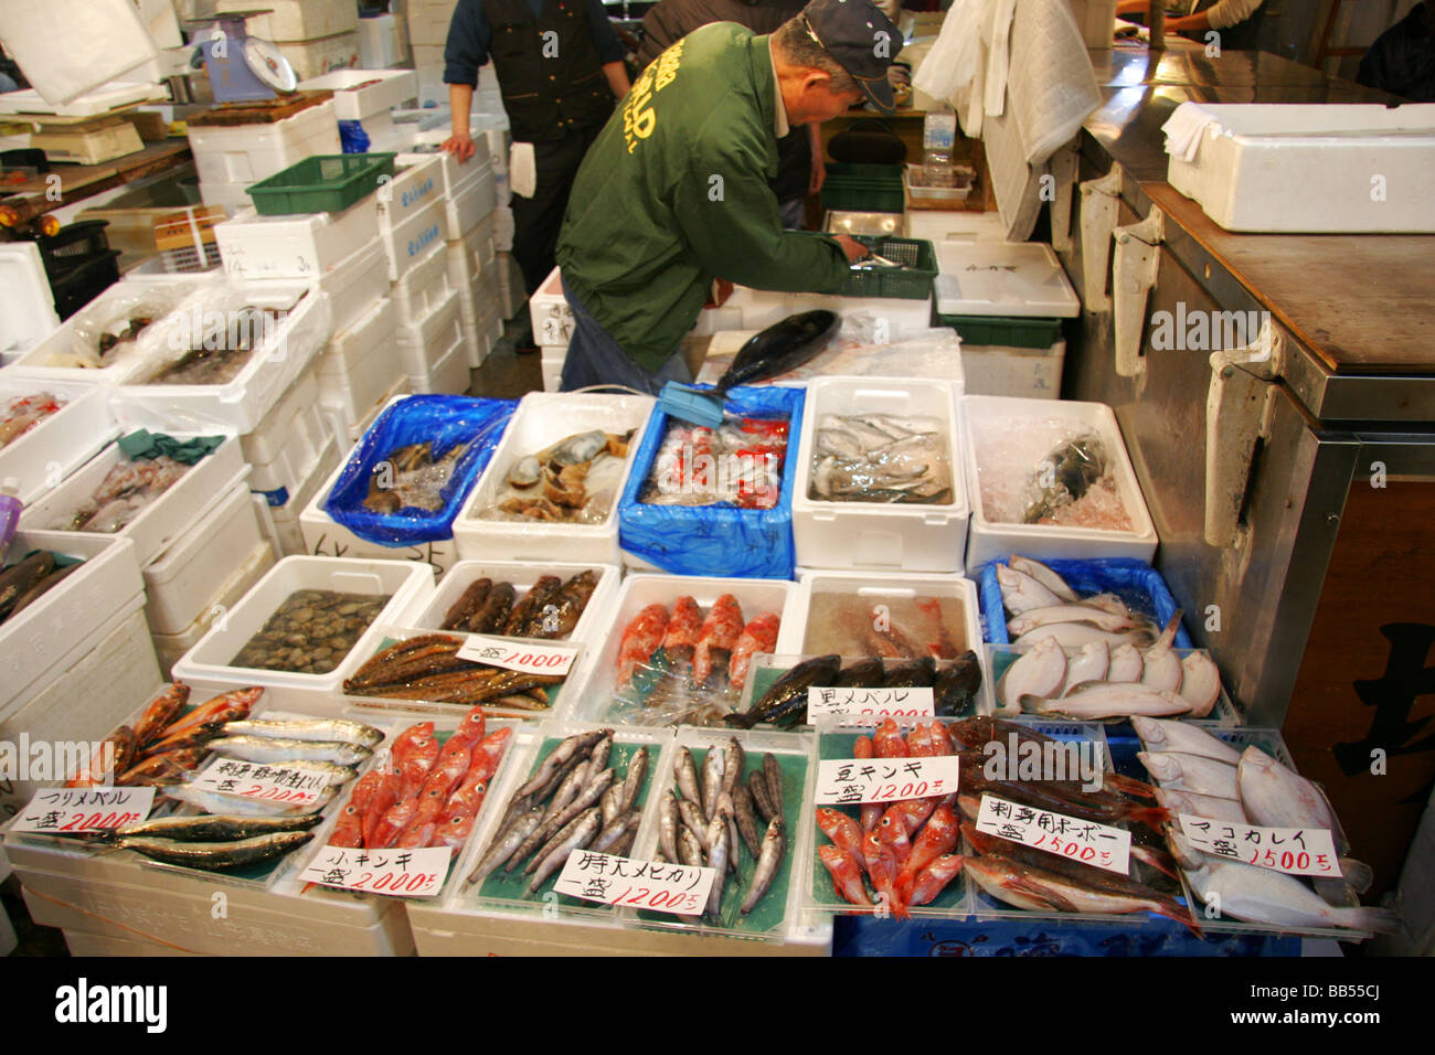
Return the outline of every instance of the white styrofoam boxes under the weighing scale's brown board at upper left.
{"type": "Polygon", "coordinates": [[[230,215],[248,208],[250,184],[297,165],[314,154],[339,154],[339,118],[324,99],[298,113],[258,125],[188,122],[189,151],[199,171],[199,198],[230,215]]]}

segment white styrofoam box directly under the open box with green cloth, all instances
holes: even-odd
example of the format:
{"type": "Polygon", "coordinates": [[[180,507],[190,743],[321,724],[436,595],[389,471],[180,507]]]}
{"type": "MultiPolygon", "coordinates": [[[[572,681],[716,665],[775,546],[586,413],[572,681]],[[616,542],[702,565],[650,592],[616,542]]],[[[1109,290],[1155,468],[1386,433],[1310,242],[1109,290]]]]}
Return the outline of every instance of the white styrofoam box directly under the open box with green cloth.
{"type": "Polygon", "coordinates": [[[267,545],[254,500],[240,475],[192,531],[177,538],[144,570],[145,617],[151,633],[182,633],[204,614],[261,543],[267,545]]]}

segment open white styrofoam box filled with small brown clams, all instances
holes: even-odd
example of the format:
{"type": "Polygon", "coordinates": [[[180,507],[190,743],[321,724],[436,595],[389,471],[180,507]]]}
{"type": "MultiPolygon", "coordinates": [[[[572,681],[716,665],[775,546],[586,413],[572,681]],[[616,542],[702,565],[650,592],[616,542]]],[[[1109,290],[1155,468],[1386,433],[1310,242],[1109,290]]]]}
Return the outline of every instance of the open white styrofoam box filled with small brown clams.
{"type": "Polygon", "coordinates": [[[344,677],[375,653],[375,627],[433,593],[433,570],[413,561],[354,560],[347,557],[286,557],[211,627],[178,663],[174,675],[195,690],[222,692],[235,685],[263,685],[273,706],[313,705],[316,696],[339,690],[344,677]],[[270,616],[297,590],[389,594],[373,624],[327,675],[298,675],[288,670],[258,670],[231,666],[240,650],[270,616]]]}

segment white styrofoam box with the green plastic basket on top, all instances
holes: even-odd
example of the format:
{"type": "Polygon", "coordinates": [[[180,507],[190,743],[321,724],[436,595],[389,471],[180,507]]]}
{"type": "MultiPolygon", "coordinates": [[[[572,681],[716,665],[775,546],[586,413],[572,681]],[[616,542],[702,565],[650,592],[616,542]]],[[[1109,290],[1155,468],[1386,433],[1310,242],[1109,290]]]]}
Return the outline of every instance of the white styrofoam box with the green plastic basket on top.
{"type": "Polygon", "coordinates": [[[343,212],[261,217],[253,208],[214,225],[224,270],[237,278],[317,278],[349,263],[379,225],[370,194],[343,212]]]}

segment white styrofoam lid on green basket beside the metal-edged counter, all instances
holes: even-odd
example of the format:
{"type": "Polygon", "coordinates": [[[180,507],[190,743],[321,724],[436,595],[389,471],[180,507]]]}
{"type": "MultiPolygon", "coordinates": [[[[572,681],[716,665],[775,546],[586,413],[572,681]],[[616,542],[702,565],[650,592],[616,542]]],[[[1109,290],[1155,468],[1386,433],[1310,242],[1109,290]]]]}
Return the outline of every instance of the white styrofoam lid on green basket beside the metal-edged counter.
{"type": "Polygon", "coordinates": [[[934,243],[937,311],[1073,319],[1081,300],[1045,243],[934,243]]]}

